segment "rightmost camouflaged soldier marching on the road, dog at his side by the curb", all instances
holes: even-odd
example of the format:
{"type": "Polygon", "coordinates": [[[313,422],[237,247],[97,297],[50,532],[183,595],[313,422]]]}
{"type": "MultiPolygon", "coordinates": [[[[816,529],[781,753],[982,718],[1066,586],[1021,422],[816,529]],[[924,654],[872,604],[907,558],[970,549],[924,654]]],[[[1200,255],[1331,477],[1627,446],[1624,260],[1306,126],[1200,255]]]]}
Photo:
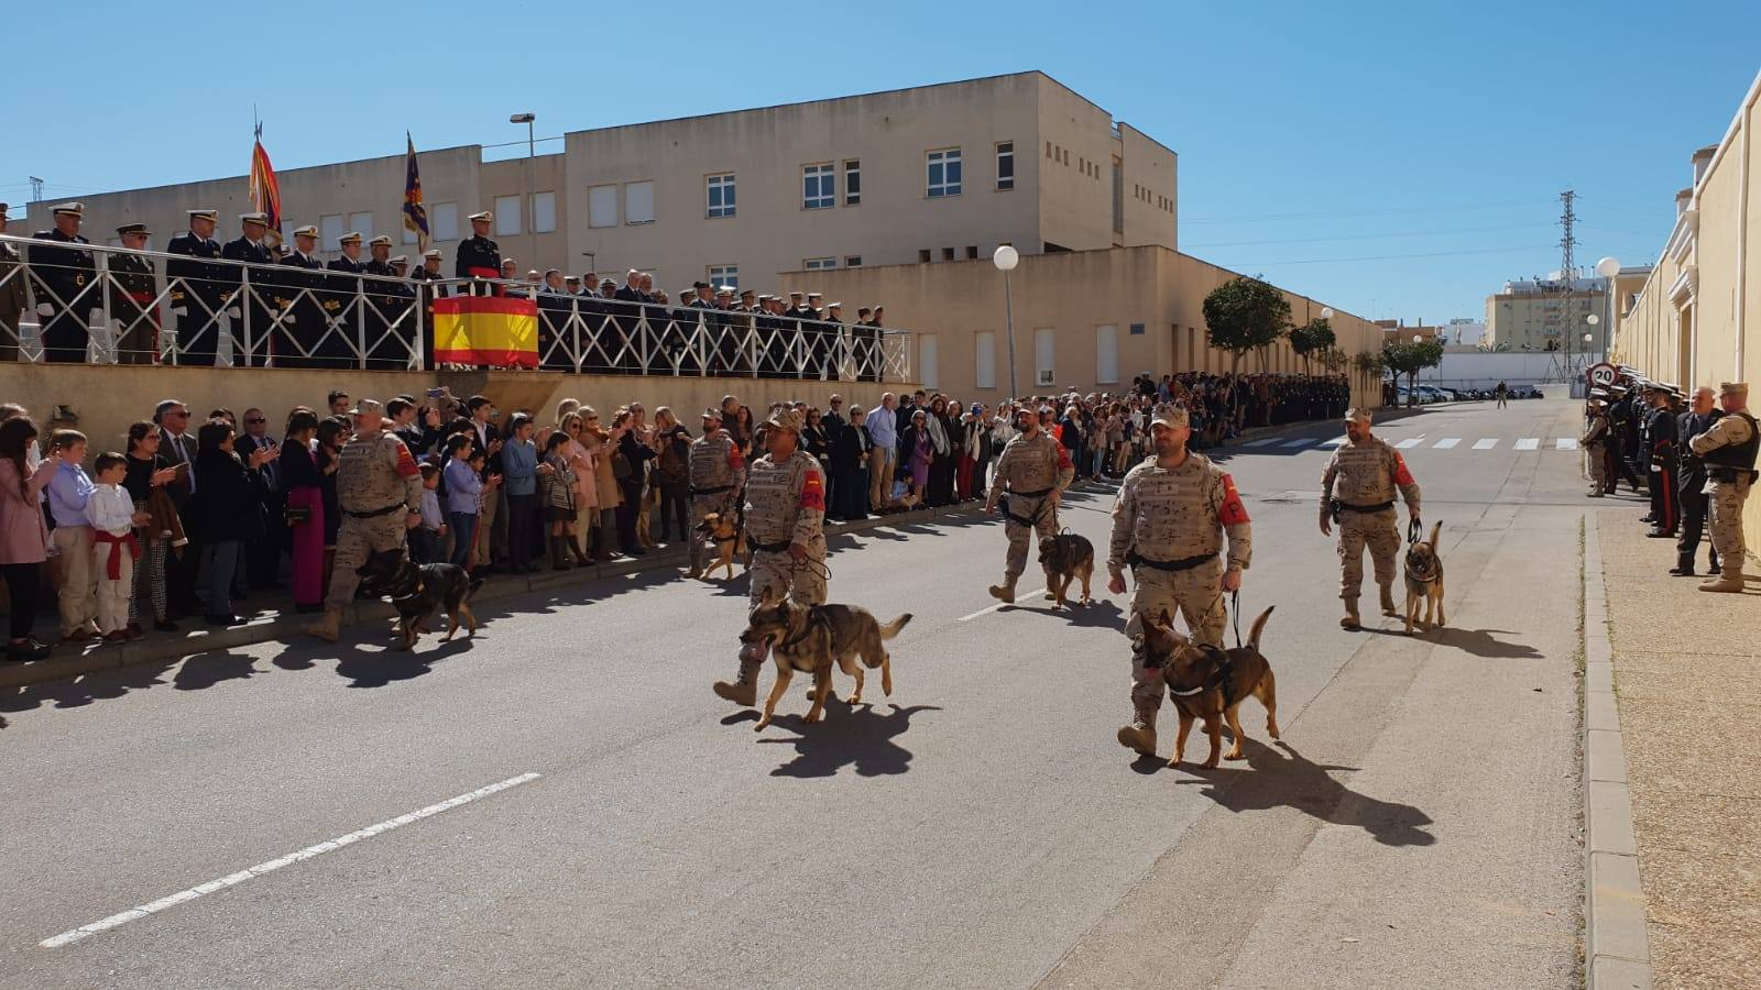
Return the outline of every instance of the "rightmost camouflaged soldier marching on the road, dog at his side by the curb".
{"type": "Polygon", "coordinates": [[[1363,548],[1375,562],[1375,583],[1382,590],[1382,615],[1395,610],[1395,555],[1400,532],[1395,528],[1395,490],[1407,502],[1407,518],[1418,523],[1419,484],[1412,481],[1400,451],[1370,435],[1370,410],[1345,414],[1347,442],[1333,451],[1321,476],[1321,536],[1333,536],[1338,521],[1338,557],[1344,564],[1338,597],[1345,602],[1342,629],[1359,629],[1358,590],[1363,587],[1363,548]]]}

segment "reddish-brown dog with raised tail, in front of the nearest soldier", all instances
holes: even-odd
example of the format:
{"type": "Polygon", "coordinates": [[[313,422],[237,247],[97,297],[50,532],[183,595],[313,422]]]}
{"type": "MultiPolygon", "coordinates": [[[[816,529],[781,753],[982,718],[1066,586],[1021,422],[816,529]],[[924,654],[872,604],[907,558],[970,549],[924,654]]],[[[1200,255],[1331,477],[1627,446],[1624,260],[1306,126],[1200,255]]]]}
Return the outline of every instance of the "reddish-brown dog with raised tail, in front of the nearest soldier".
{"type": "Polygon", "coordinates": [[[1271,664],[1259,652],[1259,632],[1266,627],[1271,610],[1259,613],[1254,629],[1247,634],[1247,645],[1233,650],[1220,650],[1205,643],[1194,643],[1182,636],[1162,610],[1160,618],[1143,617],[1143,650],[1146,662],[1162,668],[1162,680],[1173,696],[1175,710],[1180,715],[1180,735],[1175,736],[1175,757],[1169,766],[1180,766],[1187,752],[1187,733],[1192,720],[1205,720],[1205,735],[1210,736],[1212,750],[1205,759],[1205,768],[1217,766],[1217,754],[1222,750],[1222,720],[1229,719],[1229,735],[1234,745],[1222,754],[1224,759],[1242,759],[1242,720],[1236,710],[1249,696],[1257,698],[1266,706],[1266,735],[1278,738],[1278,687],[1271,676],[1271,664]]]}

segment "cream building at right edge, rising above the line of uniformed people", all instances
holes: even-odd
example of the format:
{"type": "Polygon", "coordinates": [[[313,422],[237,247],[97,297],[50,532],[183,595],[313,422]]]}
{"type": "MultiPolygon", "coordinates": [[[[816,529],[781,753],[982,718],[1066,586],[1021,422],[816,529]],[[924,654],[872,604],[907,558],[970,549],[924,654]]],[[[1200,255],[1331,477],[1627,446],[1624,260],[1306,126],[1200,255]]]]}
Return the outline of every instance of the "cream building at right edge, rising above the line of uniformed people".
{"type": "MultiPolygon", "coordinates": [[[[1745,380],[1761,395],[1761,76],[1717,144],[1692,153],[1692,185],[1676,196],[1675,227],[1657,264],[1627,294],[1613,356],[1684,388],[1745,380]]],[[[1750,409],[1754,409],[1750,400],[1750,409]]],[[[1743,527],[1761,546],[1761,499],[1743,527]]]]}

